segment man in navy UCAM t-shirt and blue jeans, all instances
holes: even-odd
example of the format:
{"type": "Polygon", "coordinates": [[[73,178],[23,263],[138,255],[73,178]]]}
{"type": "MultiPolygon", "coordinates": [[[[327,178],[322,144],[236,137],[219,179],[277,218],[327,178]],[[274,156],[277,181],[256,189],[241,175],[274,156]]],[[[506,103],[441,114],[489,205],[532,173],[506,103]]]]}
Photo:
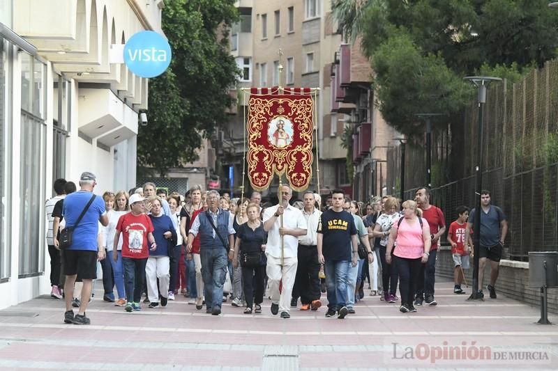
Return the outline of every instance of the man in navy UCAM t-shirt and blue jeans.
{"type": "Polygon", "coordinates": [[[343,319],[349,313],[347,276],[352,264],[359,261],[358,240],[354,218],[343,210],[345,192],[335,189],[331,195],[333,207],[320,217],[317,235],[318,260],[325,265],[328,310],[326,317],[343,319]]]}

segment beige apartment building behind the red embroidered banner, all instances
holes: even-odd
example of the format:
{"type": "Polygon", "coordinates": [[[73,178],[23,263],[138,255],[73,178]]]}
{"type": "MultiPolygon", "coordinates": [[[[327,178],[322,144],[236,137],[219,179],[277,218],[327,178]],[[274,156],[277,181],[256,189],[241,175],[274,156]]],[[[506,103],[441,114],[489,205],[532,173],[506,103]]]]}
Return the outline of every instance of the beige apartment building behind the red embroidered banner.
{"type": "MultiPolygon", "coordinates": [[[[331,65],[341,42],[331,19],[329,1],[321,0],[241,0],[236,2],[241,22],[231,32],[231,53],[242,71],[239,88],[233,91],[238,104],[230,111],[230,121],[220,134],[218,157],[223,174],[232,173],[229,187],[242,183],[244,130],[248,95],[241,88],[294,86],[319,88],[316,104],[318,159],[314,161],[310,189],[317,191],[319,164],[320,193],[345,188],[346,150],[341,148],[343,118],[331,114],[331,65]],[[282,74],[279,73],[282,65],[282,74]],[[332,123],[333,120],[333,123],[332,123]]],[[[266,193],[275,194],[278,182],[266,193]]],[[[249,189],[246,180],[246,189],[249,189]]],[[[264,193],[264,196],[266,196],[264,193]]]]}

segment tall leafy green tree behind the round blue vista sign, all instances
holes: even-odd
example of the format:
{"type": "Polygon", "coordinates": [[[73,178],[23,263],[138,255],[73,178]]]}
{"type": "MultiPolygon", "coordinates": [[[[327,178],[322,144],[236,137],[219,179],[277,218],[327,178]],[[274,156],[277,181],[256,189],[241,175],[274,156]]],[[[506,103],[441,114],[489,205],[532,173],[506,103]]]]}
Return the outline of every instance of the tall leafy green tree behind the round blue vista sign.
{"type": "Polygon", "coordinates": [[[137,136],[140,172],[165,174],[197,159],[203,137],[227,120],[229,88],[239,70],[228,30],[238,20],[234,0],[165,2],[162,28],[172,48],[164,74],[149,81],[149,123],[137,136]]]}

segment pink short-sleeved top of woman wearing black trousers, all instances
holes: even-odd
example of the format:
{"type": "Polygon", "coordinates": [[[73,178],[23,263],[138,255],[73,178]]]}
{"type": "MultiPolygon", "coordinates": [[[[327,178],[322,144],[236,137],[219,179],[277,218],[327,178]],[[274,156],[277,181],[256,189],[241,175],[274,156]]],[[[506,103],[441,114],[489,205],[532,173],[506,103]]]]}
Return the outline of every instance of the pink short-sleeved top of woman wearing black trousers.
{"type": "Polygon", "coordinates": [[[401,221],[401,225],[398,226],[398,221],[393,223],[393,228],[397,229],[397,245],[395,246],[395,251],[393,255],[399,258],[416,259],[422,258],[424,254],[424,239],[423,230],[428,229],[428,221],[423,219],[423,228],[421,229],[421,224],[418,223],[418,219],[412,221],[409,225],[407,219],[401,221]]]}

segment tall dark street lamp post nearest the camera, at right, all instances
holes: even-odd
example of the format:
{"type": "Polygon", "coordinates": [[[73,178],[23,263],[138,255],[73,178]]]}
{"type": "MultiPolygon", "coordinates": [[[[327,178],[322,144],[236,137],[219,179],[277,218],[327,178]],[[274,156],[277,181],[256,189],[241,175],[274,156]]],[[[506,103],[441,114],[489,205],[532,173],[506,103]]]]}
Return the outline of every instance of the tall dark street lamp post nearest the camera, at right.
{"type": "Polygon", "coordinates": [[[483,187],[483,120],[486,104],[486,88],[492,81],[502,81],[499,77],[469,76],[463,79],[471,81],[478,89],[478,127],[476,138],[476,206],[474,220],[474,258],[473,258],[473,292],[468,300],[483,300],[478,294],[478,254],[481,242],[481,190],[483,187]]]}

